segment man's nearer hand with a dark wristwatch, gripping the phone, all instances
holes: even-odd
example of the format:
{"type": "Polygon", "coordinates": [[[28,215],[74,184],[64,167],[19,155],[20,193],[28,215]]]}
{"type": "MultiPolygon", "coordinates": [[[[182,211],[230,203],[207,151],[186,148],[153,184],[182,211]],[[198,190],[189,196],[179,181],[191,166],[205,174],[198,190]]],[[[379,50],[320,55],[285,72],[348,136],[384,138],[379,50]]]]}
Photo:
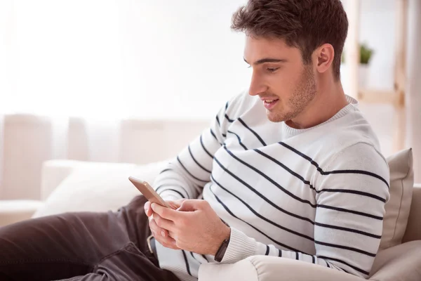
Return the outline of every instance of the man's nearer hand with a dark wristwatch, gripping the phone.
{"type": "Polygon", "coordinates": [[[178,200],[176,203],[180,204],[178,209],[152,204],[157,229],[168,230],[169,234],[163,239],[155,235],[156,240],[172,249],[215,256],[222,242],[229,238],[231,229],[205,200],[178,200]]]}

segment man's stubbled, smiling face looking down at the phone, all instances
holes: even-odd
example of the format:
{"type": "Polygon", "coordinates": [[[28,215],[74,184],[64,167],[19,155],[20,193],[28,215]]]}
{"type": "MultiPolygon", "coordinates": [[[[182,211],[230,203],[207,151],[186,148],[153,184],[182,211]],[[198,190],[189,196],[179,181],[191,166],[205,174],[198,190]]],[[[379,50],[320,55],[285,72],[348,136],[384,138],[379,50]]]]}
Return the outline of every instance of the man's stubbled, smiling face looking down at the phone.
{"type": "Polygon", "coordinates": [[[248,36],[244,60],[253,67],[249,94],[262,99],[272,122],[300,117],[316,95],[312,65],[304,65],[300,49],[283,39],[248,36]]]}

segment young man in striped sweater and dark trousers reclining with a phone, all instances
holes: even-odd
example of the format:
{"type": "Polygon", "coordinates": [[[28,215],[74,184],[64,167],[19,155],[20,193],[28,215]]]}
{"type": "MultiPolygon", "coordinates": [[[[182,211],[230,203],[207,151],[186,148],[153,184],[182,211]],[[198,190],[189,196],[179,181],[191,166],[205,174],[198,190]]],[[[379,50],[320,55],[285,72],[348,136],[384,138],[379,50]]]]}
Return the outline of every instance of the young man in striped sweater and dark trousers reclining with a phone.
{"type": "Polygon", "coordinates": [[[368,277],[389,169],[340,83],[347,27],[340,0],[249,0],[232,21],[248,93],[156,178],[173,209],[136,197],[2,228],[2,280],[196,280],[203,263],[253,255],[368,277]]]}

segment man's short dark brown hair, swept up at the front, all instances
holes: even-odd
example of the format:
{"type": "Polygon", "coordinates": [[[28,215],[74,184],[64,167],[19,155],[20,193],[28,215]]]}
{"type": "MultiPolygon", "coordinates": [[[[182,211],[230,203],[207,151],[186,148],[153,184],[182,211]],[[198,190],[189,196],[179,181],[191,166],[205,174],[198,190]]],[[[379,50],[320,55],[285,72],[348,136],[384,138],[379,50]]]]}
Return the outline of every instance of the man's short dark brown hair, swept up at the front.
{"type": "Polygon", "coordinates": [[[333,75],[340,79],[340,60],[348,18],[340,0],[248,0],[232,16],[232,30],[255,37],[284,39],[300,48],[305,64],[323,44],[335,50],[333,75]]]}

